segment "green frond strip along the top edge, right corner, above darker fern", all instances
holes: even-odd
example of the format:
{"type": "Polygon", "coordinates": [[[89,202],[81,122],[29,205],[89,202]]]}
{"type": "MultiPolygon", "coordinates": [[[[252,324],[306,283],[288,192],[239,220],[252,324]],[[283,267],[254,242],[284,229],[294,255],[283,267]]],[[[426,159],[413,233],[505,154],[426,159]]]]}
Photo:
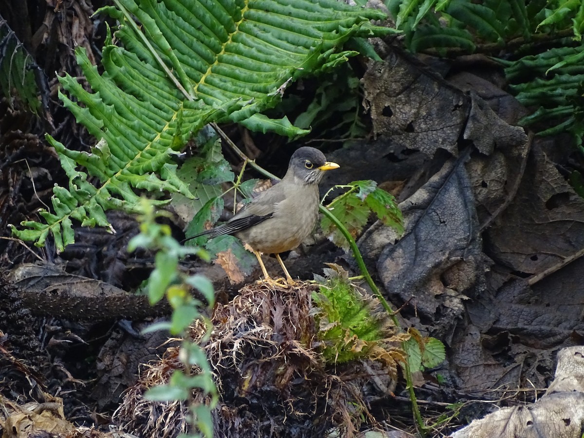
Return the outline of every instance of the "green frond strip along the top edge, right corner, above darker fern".
{"type": "MultiPolygon", "coordinates": [[[[533,34],[584,30],[581,0],[385,0],[409,50],[459,47],[471,53],[479,43],[498,43],[533,34]]],[[[483,44],[493,50],[492,44],[483,44]]]]}

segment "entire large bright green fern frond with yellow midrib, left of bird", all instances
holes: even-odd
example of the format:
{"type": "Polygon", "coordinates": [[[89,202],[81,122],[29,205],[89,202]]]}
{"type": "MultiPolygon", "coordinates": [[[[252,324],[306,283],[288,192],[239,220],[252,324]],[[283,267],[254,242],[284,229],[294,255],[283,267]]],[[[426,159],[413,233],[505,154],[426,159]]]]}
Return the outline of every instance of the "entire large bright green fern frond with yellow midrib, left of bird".
{"type": "Polygon", "coordinates": [[[60,78],[68,93],[60,98],[98,146],[71,151],[47,137],[69,188],[55,187],[54,214],[39,212],[46,223],[27,221],[26,230],[12,226],[17,237],[37,246],[53,234],[58,252],[74,241],[72,219],[109,226],[106,210],[135,211],[135,189],[192,196],[169,160],[211,121],[290,137],[306,133],[286,117],[273,120],[259,112],[276,105],[290,81],[356,54],[343,51],[342,44],[381,32],[369,20],[385,18],[383,12],[335,0],[114,2],[117,9],[100,11],[120,20],[116,37],[123,47],[104,48],[103,74],[77,50],[92,92],[69,75],[60,78]],[[101,186],[91,185],[78,165],[101,186]]]}

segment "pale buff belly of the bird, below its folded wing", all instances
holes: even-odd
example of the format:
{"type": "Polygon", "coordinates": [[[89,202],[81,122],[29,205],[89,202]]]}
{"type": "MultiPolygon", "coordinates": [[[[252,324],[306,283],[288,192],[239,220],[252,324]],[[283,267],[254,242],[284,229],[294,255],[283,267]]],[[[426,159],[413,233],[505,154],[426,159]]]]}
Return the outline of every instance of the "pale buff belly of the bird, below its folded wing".
{"type": "Polygon", "coordinates": [[[238,232],[237,237],[253,249],[266,254],[290,251],[308,237],[318,217],[313,212],[297,211],[294,214],[274,215],[261,226],[238,232]]]}

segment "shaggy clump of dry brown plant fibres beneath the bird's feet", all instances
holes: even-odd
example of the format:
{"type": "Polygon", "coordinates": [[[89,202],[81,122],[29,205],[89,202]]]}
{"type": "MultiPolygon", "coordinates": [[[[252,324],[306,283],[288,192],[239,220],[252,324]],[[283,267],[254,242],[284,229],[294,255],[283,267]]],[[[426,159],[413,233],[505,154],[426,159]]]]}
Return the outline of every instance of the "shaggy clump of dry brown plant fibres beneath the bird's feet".
{"type": "MultiPolygon", "coordinates": [[[[308,283],[294,288],[253,284],[230,303],[217,305],[213,333],[203,346],[220,394],[213,411],[215,437],[314,437],[331,430],[350,437],[364,421],[375,424],[363,388],[388,370],[361,361],[325,363],[315,323],[321,310],[312,304],[317,290],[308,283]]],[[[203,324],[194,324],[191,335],[195,342],[203,339],[203,324]]],[[[146,388],[168,382],[172,370],[181,367],[178,349],[171,348],[128,390],[116,414],[127,432],[144,438],[186,432],[183,403],[142,398],[146,388]]],[[[194,398],[206,402],[200,394],[194,398]]]]}

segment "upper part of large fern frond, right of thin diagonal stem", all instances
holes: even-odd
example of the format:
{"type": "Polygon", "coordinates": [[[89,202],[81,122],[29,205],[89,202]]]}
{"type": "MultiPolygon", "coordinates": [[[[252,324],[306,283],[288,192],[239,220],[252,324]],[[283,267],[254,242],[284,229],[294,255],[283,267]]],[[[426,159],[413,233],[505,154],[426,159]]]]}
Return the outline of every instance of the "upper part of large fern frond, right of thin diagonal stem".
{"type": "MultiPolygon", "coordinates": [[[[338,57],[336,49],[349,37],[373,34],[369,19],[385,16],[334,0],[227,1],[215,7],[188,0],[119,3],[140,19],[145,33],[158,36],[152,44],[189,93],[207,105],[234,98],[250,102],[218,121],[242,122],[253,130],[276,130],[290,137],[303,131],[286,119],[268,120],[256,113],[279,102],[279,88],[288,79],[323,68],[338,57]],[[183,43],[193,37],[193,43],[183,43]],[[165,56],[169,45],[175,57],[165,56]]],[[[126,45],[140,44],[130,26],[118,35],[126,45]]],[[[139,55],[156,62],[140,48],[139,55]]]]}

